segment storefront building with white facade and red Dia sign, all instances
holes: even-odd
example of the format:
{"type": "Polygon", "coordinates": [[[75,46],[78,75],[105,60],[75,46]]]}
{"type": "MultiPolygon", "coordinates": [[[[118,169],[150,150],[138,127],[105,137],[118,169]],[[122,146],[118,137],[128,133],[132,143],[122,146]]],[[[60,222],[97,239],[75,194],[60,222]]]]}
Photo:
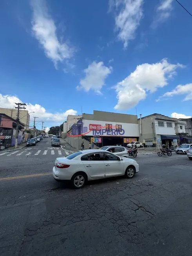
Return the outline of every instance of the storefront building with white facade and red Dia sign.
{"type": "Polygon", "coordinates": [[[82,136],[83,139],[98,145],[127,145],[139,138],[138,118],[135,115],[94,111],[82,114],[74,123],[68,136],[82,136]]]}

